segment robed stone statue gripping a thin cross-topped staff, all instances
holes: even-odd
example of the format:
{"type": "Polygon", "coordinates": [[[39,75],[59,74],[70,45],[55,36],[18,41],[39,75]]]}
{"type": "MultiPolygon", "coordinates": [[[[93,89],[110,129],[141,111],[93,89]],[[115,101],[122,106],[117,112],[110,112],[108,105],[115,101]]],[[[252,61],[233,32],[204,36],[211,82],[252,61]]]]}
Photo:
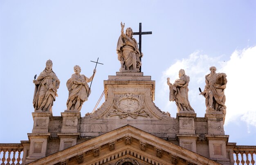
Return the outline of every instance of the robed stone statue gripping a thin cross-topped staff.
{"type": "Polygon", "coordinates": [[[74,66],[74,74],[70,79],[67,80],[67,89],[69,91],[67,99],[67,110],[78,110],[80,111],[83,102],[88,100],[91,93],[88,82],[92,81],[95,76],[96,69],[93,70],[93,75],[88,78],[85,75],[80,75],[80,66],[74,66]]]}

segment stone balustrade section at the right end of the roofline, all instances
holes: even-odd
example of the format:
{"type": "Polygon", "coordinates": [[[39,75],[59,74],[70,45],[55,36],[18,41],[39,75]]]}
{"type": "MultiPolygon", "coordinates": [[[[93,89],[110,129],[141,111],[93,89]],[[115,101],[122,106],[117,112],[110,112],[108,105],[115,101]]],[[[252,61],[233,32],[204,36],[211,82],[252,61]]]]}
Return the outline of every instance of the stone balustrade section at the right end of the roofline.
{"type": "Polygon", "coordinates": [[[256,146],[236,145],[233,149],[234,161],[237,165],[254,165],[256,159],[256,146]]]}

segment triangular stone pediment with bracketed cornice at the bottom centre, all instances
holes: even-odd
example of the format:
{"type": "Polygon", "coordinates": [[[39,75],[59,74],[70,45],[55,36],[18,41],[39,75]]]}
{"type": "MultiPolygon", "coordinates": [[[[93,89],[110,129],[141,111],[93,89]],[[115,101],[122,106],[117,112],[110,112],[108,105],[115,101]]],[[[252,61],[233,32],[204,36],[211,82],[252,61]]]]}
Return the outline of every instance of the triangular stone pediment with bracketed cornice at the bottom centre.
{"type": "Polygon", "coordinates": [[[30,165],[220,165],[131,125],[46,156],[30,165]]]}

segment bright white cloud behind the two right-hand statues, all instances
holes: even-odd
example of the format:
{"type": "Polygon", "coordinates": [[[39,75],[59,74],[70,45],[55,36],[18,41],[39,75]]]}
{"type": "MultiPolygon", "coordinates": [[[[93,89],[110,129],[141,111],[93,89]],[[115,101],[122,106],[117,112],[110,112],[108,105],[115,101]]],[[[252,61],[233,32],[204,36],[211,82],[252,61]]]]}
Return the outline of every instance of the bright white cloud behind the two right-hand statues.
{"type": "MultiPolygon", "coordinates": [[[[162,73],[160,93],[157,95],[157,105],[164,105],[163,111],[170,112],[172,117],[176,117],[177,108],[175,102],[168,101],[169,88],[166,78],[170,77],[171,83],[178,78],[178,72],[182,68],[186,75],[190,77],[189,101],[197,113],[198,117],[204,117],[205,104],[204,97],[199,96],[198,87],[204,89],[204,76],[207,75],[210,66],[217,67],[217,73],[227,74],[227,88],[225,89],[227,114],[225,124],[231,121],[241,120],[247,123],[247,127],[256,127],[256,87],[254,85],[253,66],[256,62],[256,46],[246,48],[242,51],[234,51],[229,61],[224,62],[223,56],[210,57],[196,51],[188,58],[177,60],[162,73]]],[[[249,130],[248,130],[249,131],[249,130]]]]}

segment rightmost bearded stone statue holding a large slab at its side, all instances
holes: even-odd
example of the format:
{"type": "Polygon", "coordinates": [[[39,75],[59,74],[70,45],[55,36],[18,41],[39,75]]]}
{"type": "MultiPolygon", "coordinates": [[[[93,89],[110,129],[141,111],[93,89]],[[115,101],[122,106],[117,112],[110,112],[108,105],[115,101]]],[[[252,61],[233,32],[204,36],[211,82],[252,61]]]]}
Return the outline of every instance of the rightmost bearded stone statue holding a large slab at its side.
{"type": "Polygon", "coordinates": [[[211,73],[205,76],[204,91],[199,95],[205,97],[207,110],[220,111],[226,113],[224,90],[227,84],[227,75],[225,73],[216,73],[216,67],[210,67],[211,73]]]}

